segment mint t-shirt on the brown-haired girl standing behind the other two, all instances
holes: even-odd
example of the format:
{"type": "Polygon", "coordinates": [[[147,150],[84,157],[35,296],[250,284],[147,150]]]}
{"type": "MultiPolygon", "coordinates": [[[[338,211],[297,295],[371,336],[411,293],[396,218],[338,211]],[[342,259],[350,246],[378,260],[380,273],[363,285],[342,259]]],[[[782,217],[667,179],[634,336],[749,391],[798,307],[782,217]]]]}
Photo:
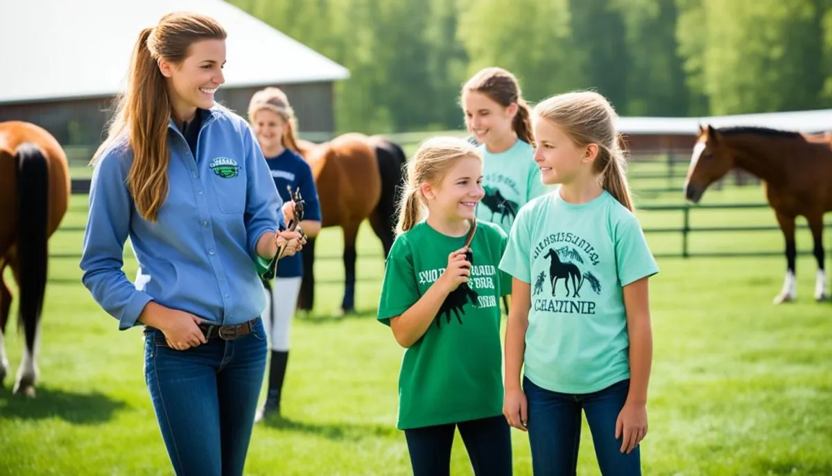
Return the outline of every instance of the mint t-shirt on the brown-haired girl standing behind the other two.
{"type": "Polygon", "coordinates": [[[485,196],[477,206],[477,220],[491,221],[508,232],[520,207],[551,189],[540,180],[540,167],[534,162],[534,148],[518,139],[508,151],[494,154],[485,144],[483,189],[485,196]]]}

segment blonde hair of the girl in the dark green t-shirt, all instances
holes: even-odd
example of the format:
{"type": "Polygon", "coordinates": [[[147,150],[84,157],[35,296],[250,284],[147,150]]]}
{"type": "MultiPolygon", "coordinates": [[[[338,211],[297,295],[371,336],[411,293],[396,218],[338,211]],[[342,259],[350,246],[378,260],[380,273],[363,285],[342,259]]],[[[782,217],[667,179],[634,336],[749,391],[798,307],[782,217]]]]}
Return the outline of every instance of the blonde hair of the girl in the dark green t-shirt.
{"type": "Polygon", "coordinates": [[[396,235],[413,228],[427,212],[420,186],[424,182],[436,186],[442,182],[453,165],[464,157],[483,160],[477,147],[456,137],[438,136],[423,141],[416,155],[408,162],[407,183],[399,201],[399,224],[396,235]]]}

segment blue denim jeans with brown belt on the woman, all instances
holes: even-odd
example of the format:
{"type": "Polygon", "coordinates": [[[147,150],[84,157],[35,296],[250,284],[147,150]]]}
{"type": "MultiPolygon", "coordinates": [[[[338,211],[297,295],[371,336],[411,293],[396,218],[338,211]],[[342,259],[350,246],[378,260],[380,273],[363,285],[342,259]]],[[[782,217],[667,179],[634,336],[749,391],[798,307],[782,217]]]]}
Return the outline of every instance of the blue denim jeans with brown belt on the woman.
{"type": "Polygon", "coordinates": [[[145,332],[145,379],[176,474],[243,474],[265,372],[262,321],[249,335],[188,350],[145,332]]]}

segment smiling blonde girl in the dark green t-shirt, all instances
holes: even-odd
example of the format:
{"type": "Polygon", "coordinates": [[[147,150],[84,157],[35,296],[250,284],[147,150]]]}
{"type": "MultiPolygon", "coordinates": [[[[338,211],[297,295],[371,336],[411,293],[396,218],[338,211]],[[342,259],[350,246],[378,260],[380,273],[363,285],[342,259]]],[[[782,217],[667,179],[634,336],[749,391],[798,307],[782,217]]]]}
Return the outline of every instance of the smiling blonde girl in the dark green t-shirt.
{"type": "Polygon", "coordinates": [[[437,137],[408,167],[378,315],[405,349],[397,428],[414,475],[448,474],[457,428],[475,474],[509,475],[498,302],[511,281],[497,268],[508,236],[474,217],[483,158],[467,141],[437,137]]]}

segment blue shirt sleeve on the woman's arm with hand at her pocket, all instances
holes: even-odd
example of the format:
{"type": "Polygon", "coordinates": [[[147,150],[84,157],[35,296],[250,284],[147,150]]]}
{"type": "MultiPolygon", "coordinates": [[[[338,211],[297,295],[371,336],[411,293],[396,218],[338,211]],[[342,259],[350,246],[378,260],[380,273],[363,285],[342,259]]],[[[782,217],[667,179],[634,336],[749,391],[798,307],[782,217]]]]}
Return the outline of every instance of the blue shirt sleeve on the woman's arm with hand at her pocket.
{"type": "Polygon", "coordinates": [[[128,168],[118,152],[104,155],[97,162],[92,173],[80,263],[84,286],[118,320],[119,330],[136,325],[141,311],[152,300],[150,295],[136,290],[122,270],[124,243],[133,212],[125,181],[128,168]]]}

